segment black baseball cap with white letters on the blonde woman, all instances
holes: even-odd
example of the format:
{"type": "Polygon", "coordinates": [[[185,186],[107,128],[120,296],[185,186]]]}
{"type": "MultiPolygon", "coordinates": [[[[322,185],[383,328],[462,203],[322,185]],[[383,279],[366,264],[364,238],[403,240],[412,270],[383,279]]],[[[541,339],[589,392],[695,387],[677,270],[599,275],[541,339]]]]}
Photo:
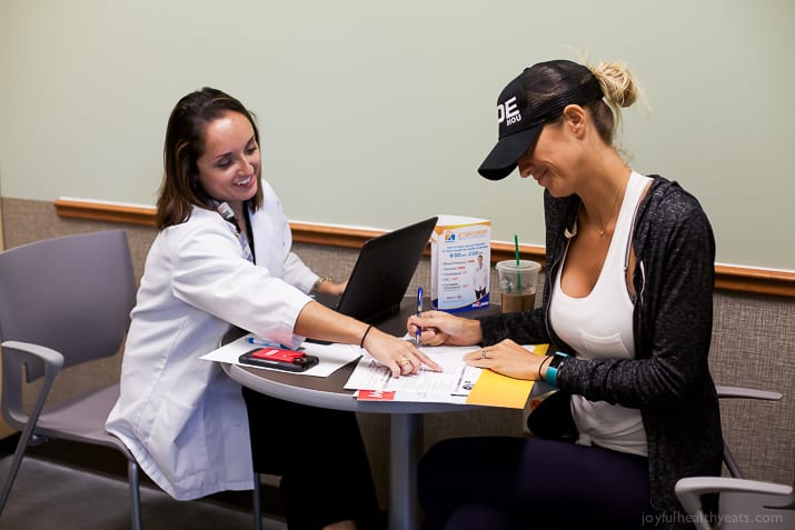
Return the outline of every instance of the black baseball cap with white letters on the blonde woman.
{"type": "Polygon", "coordinates": [[[599,81],[583,64],[555,60],[525,68],[497,98],[499,140],[478,173],[489,180],[506,178],[536,142],[544,123],[560,116],[568,104],[602,98],[599,81]]]}

